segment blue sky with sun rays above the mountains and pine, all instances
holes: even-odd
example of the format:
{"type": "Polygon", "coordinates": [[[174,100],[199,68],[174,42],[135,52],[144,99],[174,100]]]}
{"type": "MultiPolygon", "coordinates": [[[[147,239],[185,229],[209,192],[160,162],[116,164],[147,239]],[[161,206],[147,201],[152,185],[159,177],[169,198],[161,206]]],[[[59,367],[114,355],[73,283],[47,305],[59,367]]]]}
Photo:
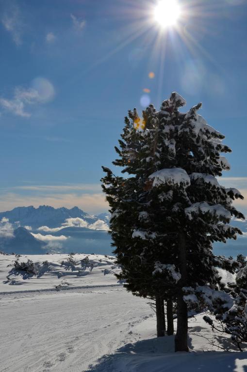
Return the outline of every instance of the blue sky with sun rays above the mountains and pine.
{"type": "Polygon", "coordinates": [[[173,91],[226,135],[221,183],[247,196],[247,1],[181,0],[179,25],[163,31],[155,2],[0,0],[0,211],[107,210],[101,165],[124,116],[173,91]]]}

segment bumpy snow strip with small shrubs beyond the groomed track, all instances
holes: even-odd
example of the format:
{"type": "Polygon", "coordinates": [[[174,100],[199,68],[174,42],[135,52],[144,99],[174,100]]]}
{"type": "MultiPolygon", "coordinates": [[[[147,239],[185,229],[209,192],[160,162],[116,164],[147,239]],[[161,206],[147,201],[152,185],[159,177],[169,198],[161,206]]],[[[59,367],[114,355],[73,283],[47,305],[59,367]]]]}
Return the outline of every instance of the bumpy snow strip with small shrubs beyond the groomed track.
{"type": "Polygon", "coordinates": [[[27,262],[30,259],[35,263],[39,271],[39,274],[35,276],[16,272],[13,266],[16,257],[0,254],[0,293],[56,290],[58,285],[63,289],[120,285],[114,275],[119,272],[114,263],[114,256],[75,254],[73,257],[78,262],[73,271],[66,266],[61,266],[62,261],[67,261],[68,254],[33,254],[19,257],[19,262],[27,262]],[[89,267],[82,271],[80,260],[87,256],[89,262],[94,264],[92,272],[89,267]],[[42,264],[44,261],[48,261],[48,266],[42,264]]]}

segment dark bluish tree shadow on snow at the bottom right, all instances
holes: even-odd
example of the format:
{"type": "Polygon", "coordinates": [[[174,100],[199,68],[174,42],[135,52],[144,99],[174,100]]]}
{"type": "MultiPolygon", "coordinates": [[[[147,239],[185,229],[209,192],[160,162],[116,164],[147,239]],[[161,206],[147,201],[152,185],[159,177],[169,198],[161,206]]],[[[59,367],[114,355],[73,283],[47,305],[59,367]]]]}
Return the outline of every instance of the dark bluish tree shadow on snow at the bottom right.
{"type": "Polygon", "coordinates": [[[247,352],[174,353],[174,336],[128,343],[82,372],[247,372],[247,352]]]}

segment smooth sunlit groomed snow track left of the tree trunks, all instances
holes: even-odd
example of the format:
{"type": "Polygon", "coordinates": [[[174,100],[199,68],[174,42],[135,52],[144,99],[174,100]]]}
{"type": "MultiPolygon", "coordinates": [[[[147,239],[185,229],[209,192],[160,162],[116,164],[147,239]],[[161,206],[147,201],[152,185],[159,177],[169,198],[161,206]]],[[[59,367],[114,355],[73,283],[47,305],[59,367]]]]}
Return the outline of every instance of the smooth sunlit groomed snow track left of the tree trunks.
{"type": "Polygon", "coordinates": [[[1,372],[81,372],[123,345],[129,323],[150,312],[124,290],[67,292],[2,297],[1,372]]]}

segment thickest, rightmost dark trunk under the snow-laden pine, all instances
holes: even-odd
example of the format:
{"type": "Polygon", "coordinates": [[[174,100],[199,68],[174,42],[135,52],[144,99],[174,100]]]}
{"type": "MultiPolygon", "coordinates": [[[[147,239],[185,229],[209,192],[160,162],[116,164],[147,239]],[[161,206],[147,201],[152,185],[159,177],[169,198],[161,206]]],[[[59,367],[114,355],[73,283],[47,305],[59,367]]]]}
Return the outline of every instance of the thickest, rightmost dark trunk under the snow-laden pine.
{"type": "Polygon", "coordinates": [[[187,268],[186,268],[186,245],[184,233],[179,234],[179,269],[181,274],[181,279],[179,281],[180,290],[178,293],[178,323],[177,332],[175,336],[175,351],[189,351],[188,348],[188,312],[187,305],[183,301],[182,287],[186,285],[187,279],[187,268]]]}

